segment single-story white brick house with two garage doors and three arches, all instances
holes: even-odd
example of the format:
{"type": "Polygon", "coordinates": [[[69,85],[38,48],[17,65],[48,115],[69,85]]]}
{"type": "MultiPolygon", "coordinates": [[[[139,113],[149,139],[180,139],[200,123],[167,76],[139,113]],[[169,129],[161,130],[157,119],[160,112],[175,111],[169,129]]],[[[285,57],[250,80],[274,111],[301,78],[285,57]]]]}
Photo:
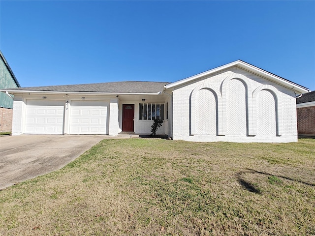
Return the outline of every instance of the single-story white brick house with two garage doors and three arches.
{"type": "Polygon", "coordinates": [[[296,94],[309,89],[237,60],[176,81],[6,89],[12,135],[157,134],[176,140],[296,142],[296,94]]]}

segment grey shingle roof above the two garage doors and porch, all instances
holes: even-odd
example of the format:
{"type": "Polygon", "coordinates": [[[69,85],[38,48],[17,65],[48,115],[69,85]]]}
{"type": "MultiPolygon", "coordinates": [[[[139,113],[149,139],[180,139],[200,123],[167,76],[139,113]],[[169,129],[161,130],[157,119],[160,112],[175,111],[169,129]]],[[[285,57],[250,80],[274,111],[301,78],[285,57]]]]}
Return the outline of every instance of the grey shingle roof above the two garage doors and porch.
{"type": "Polygon", "coordinates": [[[64,91],[64,92],[139,92],[158,93],[168,82],[122,81],[97,84],[59,85],[43,87],[14,88],[10,90],[64,91]]]}

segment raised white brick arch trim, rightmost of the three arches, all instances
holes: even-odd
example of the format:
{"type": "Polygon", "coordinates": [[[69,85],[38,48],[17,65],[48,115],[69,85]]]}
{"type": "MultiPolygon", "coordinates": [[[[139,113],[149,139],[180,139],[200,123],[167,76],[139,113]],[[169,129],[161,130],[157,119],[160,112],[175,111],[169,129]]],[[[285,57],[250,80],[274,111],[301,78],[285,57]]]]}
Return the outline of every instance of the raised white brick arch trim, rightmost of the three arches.
{"type": "Polygon", "coordinates": [[[257,107],[256,107],[256,99],[257,99],[257,94],[261,90],[267,90],[269,91],[275,98],[275,105],[276,105],[276,127],[277,127],[277,136],[282,135],[282,129],[283,129],[283,124],[282,124],[282,99],[281,99],[281,93],[279,92],[278,89],[271,85],[262,85],[256,88],[252,92],[252,107],[253,107],[253,133],[254,135],[257,134],[257,107]]]}

